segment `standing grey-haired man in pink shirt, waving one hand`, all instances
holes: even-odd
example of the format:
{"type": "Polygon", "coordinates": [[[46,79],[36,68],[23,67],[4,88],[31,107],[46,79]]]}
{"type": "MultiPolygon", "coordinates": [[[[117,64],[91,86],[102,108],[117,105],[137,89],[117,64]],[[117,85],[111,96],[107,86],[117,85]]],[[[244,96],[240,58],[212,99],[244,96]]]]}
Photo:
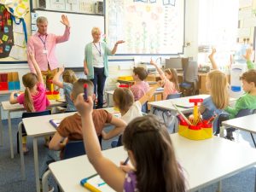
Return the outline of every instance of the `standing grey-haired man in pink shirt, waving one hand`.
{"type": "MultiPolygon", "coordinates": [[[[48,20],[46,17],[40,16],[37,19],[38,32],[34,34],[27,42],[27,49],[30,49],[35,55],[38,66],[43,75],[44,84],[50,89],[49,79],[53,79],[55,73],[58,71],[58,61],[55,55],[56,44],[60,44],[69,39],[70,26],[66,15],[61,15],[61,23],[66,26],[65,32],[62,36],[47,33],[48,20]]],[[[27,56],[28,66],[32,73],[35,69],[32,61],[27,56]]]]}

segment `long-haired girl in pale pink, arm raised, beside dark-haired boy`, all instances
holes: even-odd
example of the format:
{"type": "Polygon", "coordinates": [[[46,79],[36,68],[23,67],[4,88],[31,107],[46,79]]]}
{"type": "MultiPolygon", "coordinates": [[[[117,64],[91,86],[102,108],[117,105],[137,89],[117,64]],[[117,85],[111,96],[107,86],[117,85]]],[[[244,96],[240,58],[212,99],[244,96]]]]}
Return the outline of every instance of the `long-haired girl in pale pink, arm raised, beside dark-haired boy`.
{"type": "Polygon", "coordinates": [[[150,61],[150,64],[156,67],[158,73],[160,73],[160,78],[162,79],[161,86],[164,86],[163,99],[165,100],[170,94],[176,94],[179,92],[179,86],[177,81],[177,72],[173,68],[167,68],[165,73],[154,63],[150,61]]]}

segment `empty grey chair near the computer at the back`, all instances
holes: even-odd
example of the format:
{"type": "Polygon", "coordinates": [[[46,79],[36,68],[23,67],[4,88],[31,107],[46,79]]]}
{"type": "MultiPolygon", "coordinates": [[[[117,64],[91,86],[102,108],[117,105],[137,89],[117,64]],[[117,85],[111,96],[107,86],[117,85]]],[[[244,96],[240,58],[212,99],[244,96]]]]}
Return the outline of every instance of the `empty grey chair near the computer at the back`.
{"type": "Polygon", "coordinates": [[[179,84],[183,96],[194,96],[198,90],[198,65],[196,61],[183,58],[183,82],[179,84]]]}

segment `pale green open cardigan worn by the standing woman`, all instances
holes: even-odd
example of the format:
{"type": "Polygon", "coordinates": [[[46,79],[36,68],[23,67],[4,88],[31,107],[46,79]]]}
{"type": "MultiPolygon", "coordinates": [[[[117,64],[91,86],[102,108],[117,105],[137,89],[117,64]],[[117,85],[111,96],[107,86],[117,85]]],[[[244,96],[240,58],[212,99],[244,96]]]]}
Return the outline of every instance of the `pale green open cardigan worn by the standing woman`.
{"type": "MultiPolygon", "coordinates": [[[[108,49],[108,46],[104,43],[101,42],[102,48],[104,49],[104,74],[106,77],[108,77],[108,55],[113,55],[111,53],[111,50],[108,49]]],[[[84,61],[87,62],[87,67],[88,67],[88,74],[87,74],[87,79],[94,79],[94,69],[92,65],[92,43],[86,44],[85,49],[84,49],[84,61]]]]}

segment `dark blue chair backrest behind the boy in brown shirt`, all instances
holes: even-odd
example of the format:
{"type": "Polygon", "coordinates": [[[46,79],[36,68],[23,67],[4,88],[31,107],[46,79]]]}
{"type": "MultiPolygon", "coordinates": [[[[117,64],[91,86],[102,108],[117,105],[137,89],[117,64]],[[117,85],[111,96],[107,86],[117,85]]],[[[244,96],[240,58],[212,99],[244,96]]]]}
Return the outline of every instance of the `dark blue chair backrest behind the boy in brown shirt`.
{"type": "Polygon", "coordinates": [[[63,159],[77,157],[85,154],[83,141],[69,141],[64,148],[63,159]]]}

